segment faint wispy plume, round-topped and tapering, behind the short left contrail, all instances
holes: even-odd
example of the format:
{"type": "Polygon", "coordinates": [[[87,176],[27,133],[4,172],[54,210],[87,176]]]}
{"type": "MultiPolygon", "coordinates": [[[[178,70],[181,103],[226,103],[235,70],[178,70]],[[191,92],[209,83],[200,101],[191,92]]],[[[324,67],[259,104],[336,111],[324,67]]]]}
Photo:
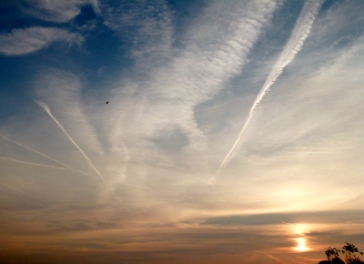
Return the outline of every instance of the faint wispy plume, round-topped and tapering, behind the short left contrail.
{"type": "MultiPolygon", "coordinates": [[[[86,97],[83,100],[82,93],[84,89],[85,84],[79,76],[58,68],[49,68],[41,71],[36,77],[34,96],[37,101],[52,106],[52,111],[56,113],[57,120],[66,127],[66,130],[73,131],[72,136],[79,145],[98,153],[99,156],[103,156],[104,152],[100,144],[100,138],[103,138],[103,135],[97,135],[96,133],[96,128],[100,129],[103,123],[96,122],[96,127],[92,123],[94,121],[93,117],[100,112],[98,109],[100,99],[96,98],[95,101],[88,101],[88,97],[86,97]],[[93,106],[97,106],[97,108],[93,106]]],[[[102,112],[102,114],[105,115],[106,112],[102,112]]],[[[96,119],[97,121],[107,120],[105,117],[96,119]]],[[[106,134],[106,132],[101,134],[106,134]]]]}

